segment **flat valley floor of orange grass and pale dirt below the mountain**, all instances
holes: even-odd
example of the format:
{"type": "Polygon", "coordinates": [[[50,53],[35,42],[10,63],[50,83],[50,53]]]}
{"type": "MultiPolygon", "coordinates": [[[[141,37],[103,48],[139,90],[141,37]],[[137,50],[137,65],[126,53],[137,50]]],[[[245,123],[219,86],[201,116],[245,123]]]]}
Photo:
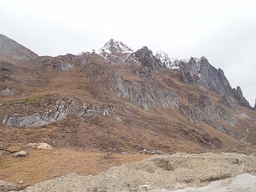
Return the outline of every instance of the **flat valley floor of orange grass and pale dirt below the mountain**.
{"type": "MultiPolygon", "coordinates": [[[[11,150],[16,151],[15,147],[11,150]]],[[[0,180],[3,180],[0,181],[0,191],[256,190],[255,154],[147,155],[74,149],[26,151],[28,156],[0,156],[0,180]]]]}

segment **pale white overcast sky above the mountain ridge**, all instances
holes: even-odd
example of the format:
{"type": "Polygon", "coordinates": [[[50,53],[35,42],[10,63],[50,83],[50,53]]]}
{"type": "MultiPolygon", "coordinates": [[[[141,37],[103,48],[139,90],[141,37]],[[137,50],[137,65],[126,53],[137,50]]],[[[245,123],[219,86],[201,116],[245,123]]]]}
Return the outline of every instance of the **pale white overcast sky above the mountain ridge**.
{"type": "Polygon", "coordinates": [[[110,38],[178,59],[205,55],[254,106],[255,9],[245,0],[0,0],[0,33],[39,55],[78,54],[110,38]]]}

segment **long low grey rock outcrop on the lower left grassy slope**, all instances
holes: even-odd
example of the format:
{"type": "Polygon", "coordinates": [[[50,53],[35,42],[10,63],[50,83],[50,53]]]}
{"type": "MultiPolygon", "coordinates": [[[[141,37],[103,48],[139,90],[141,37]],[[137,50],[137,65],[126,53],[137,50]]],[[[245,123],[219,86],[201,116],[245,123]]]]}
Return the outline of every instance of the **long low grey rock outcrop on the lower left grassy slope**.
{"type": "MultiPolygon", "coordinates": [[[[54,98],[48,98],[54,100],[54,98]]],[[[39,105],[46,107],[46,101],[39,101],[39,105]]],[[[29,110],[29,108],[28,108],[29,110]]],[[[37,109],[41,110],[40,108],[37,109]]],[[[9,114],[4,117],[3,123],[10,127],[32,127],[40,128],[54,122],[61,121],[69,116],[76,118],[84,118],[91,115],[100,114],[103,116],[110,116],[122,122],[122,117],[114,112],[113,105],[92,105],[87,102],[82,102],[76,98],[58,97],[55,105],[50,107],[46,112],[36,112],[31,115],[9,114]]]]}

